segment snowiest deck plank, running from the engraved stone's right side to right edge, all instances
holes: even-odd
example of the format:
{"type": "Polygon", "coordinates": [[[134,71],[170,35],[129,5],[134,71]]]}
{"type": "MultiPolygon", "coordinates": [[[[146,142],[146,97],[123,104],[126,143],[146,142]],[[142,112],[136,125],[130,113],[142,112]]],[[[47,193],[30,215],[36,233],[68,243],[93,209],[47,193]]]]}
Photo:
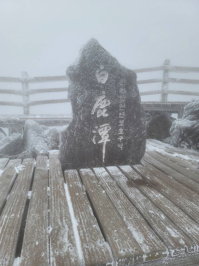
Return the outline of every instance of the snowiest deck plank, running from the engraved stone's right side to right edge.
{"type": "Polygon", "coordinates": [[[199,165],[199,158],[197,156],[193,156],[192,154],[186,152],[185,150],[176,148],[172,145],[169,145],[167,143],[163,143],[159,140],[147,140],[147,143],[153,147],[155,147],[155,150],[158,151],[163,151],[166,153],[171,154],[172,156],[179,157],[183,160],[186,160],[189,163],[193,163],[194,165],[198,166],[199,165]]]}

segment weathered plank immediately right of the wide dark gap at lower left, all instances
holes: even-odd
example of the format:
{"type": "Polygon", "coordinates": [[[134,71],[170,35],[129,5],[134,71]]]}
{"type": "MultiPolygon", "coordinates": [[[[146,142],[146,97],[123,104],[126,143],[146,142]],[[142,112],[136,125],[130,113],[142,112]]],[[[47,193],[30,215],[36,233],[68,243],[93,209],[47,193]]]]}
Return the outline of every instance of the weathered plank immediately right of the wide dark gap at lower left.
{"type": "Polygon", "coordinates": [[[38,156],[21,251],[21,266],[49,265],[47,157],[38,156]]]}

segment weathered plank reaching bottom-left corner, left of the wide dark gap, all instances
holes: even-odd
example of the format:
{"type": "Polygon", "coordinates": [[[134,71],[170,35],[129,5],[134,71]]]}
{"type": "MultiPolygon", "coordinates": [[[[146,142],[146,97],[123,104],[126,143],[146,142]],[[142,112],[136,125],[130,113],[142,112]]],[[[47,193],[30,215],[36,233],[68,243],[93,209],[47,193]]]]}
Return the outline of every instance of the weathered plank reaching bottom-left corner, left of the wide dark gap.
{"type": "Polygon", "coordinates": [[[12,265],[15,258],[21,220],[34,169],[34,159],[24,159],[23,165],[25,169],[19,172],[0,216],[0,265],[3,266],[12,265]]]}

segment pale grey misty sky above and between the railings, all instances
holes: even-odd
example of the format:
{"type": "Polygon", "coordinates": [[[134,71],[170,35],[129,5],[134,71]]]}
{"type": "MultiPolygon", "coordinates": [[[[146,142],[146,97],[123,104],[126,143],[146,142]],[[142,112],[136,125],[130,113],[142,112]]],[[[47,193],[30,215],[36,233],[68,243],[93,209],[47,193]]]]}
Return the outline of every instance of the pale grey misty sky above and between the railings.
{"type": "MultiPolygon", "coordinates": [[[[199,67],[198,0],[0,0],[0,76],[65,75],[80,47],[90,38],[130,68],[199,67]]],[[[138,80],[162,78],[162,71],[138,73],[138,80]]],[[[199,73],[170,73],[170,77],[199,79],[199,73]]],[[[68,82],[29,84],[29,89],[67,87],[68,82]]],[[[141,84],[140,91],[161,89],[141,84]]],[[[21,83],[0,82],[0,89],[21,89],[21,83]]],[[[199,85],[169,83],[169,89],[199,91],[199,85]]],[[[29,100],[62,99],[67,93],[30,95],[29,100]]],[[[159,95],[142,96],[159,101],[159,95]]],[[[199,96],[168,95],[168,101],[199,96]]],[[[0,94],[1,101],[22,96],[0,94]]],[[[70,114],[70,103],[30,106],[31,114],[70,114]]],[[[1,114],[22,114],[22,107],[0,106],[1,114]]]]}

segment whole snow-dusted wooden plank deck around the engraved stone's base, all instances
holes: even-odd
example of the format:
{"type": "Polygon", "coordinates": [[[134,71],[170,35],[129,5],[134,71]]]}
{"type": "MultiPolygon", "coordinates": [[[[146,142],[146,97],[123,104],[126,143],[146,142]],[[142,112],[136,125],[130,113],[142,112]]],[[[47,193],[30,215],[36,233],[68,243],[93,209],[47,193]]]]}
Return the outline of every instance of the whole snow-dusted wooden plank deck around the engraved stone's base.
{"type": "Polygon", "coordinates": [[[198,154],[148,140],[134,166],[0,159],[0,265],[199,265],[198,154]]]}

